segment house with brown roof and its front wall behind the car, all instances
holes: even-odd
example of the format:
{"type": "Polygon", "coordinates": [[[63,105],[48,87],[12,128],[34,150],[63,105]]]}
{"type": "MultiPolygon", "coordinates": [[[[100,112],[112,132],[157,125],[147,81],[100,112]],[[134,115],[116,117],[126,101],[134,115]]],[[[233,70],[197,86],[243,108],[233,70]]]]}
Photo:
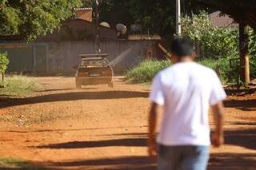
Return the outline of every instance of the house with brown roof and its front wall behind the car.
{"type": "MultiPolygon", "coordinates": [[[[8,52],[7,72],[74,73],[73,66],[80,61],[79,54],[95,53],[95,24],[92,9],[76,9],[75,18],[67,19],[59,30],[27,43],[19,35],[0,36],[0,52],[8,52]]],[[[149,46],[159,40],[118,39],[115,29],[100,26],[102,53],[109,53],[115,71],[126,71],[148,56],[149,46]]],[[[158,53],[151,53],[158,55],[158,53]]],[[[154,56],[153,56],[154,57],[154,56]]]]}

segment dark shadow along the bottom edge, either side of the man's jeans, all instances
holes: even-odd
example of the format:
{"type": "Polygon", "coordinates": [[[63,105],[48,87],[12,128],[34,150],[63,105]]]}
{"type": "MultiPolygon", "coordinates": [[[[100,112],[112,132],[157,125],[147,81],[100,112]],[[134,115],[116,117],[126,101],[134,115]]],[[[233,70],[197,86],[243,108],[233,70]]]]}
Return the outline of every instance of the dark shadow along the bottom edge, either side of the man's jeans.
{"type": "MultiPolygon", "coordinates": [[[[256,154],[212,154],[210,156],[209,170],[235,170],[255,168],[256,154]]],[[[68,160],[63,162],[41,163],[42,166],[50,168],[81,168],[81,169],[107,169],[107,170],[155,170],[156,159],[149,156],[124,156],[116,158],[95,160],[68,160]]]]}

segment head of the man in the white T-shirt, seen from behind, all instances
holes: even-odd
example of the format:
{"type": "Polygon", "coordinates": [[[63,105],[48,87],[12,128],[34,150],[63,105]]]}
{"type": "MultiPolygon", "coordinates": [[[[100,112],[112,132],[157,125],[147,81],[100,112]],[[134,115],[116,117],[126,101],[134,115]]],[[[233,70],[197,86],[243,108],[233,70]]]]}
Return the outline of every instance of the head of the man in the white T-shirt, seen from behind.
{"type": "Polygon", "coordinates": [[[170,54],[173,63],[193,61],[193,44],[188,38],[175,38],[170,45],[170,54]]]}

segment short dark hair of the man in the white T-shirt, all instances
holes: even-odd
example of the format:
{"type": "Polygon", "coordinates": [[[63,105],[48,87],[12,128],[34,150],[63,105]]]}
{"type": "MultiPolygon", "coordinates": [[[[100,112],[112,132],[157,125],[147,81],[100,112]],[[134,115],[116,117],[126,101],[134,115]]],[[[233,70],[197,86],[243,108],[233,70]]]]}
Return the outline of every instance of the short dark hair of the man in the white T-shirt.
{"type": "Polygon", "coordinates": [[[188,38],[175,38],[170,45],[170,51],[178,57],[193,55],[193,43],[188,38]]]}

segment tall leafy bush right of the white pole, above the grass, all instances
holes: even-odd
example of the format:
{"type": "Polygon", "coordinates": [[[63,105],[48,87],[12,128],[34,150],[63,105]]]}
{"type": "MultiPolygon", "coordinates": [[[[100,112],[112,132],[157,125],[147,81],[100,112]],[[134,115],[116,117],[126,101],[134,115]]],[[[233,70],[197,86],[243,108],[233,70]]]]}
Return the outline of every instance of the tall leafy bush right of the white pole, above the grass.
{"type": "MultiPolygon", "coordinates": [[[[197,42],[203,57],[235,57],[238,56],[238,29],[217,28],[208,19],[208,14],[185,16],[181,20],[182,35],[197,42]]],[[[202,57],[202,56],[201,56],[202,57]]]]}

